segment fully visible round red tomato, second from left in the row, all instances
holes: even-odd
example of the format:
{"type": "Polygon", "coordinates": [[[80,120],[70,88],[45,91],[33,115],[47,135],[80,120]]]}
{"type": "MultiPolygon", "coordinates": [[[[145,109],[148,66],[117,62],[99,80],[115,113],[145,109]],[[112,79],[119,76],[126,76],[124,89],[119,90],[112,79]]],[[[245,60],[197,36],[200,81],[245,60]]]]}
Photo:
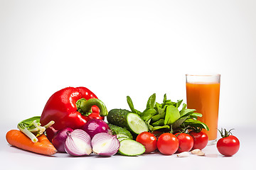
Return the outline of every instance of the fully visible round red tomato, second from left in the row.
{"type": "Polygon", "coordinates": [[[157,148],[161,154],[174,154],[178,150],[178,139],[174,134],[163,133],[157,140],[157,148]]]}

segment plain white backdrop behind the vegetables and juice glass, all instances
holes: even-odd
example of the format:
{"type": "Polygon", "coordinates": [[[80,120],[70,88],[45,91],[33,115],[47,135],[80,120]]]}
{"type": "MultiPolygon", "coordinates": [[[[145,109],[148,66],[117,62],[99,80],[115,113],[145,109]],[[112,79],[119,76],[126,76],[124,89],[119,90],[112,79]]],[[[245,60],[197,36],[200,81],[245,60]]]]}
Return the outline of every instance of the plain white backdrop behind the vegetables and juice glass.
{"type": "Polygon", "coordinates": [[[153,93],[186,103],[185,74],[219,73],[219,125],[249,128],[255,8],[247,0],[0,0],[1,126],[41,115],[66,86],[86,86],[108,110],[129,108],[131,96],[143,111],[153,93]]]}

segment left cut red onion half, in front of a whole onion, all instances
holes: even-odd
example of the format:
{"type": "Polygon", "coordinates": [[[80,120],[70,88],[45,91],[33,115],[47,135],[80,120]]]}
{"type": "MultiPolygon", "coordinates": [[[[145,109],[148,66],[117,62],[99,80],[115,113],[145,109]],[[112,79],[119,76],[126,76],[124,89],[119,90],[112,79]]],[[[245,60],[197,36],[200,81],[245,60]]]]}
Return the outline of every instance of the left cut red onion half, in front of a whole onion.
{"type": "Polygon", "coordinates": [[[84,156],[92,153],[90,135],[80,129],[68,132],[64,147],[65,151],[72,156],[84,156]]]}

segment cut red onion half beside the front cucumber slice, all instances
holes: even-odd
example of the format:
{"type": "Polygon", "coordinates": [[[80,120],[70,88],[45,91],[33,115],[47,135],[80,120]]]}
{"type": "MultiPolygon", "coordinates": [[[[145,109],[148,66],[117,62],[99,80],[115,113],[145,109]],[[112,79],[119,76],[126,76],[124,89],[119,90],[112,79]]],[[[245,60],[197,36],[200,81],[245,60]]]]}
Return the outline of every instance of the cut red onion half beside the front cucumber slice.
{"type": "Polygon", "coordinates": [[[92,138],[92,151],[103,157],[110,157],[118,152],[120,142],[116,135],[105,132],[97,133],[92,138]]]}

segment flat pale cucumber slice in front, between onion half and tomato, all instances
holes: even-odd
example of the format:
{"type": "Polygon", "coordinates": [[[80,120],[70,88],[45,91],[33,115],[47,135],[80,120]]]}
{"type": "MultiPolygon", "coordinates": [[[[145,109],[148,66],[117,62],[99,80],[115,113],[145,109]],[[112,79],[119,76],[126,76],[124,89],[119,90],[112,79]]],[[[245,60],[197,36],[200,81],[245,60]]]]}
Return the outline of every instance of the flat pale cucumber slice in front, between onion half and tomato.
{"type": "Polygon", "coordinates": [[[124,156],[137,156],[145,152],[145,147],[135,140],[122,140],[120,141],[119,154],[124,156]]]}

